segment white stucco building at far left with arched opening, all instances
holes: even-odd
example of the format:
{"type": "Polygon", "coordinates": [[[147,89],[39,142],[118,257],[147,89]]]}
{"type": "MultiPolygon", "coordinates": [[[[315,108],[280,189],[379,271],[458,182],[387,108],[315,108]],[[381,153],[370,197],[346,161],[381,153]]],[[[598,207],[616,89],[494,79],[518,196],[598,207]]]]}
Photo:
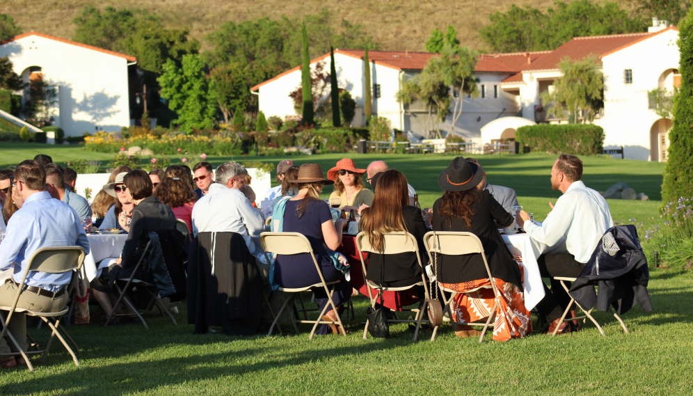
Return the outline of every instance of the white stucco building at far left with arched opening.
{"type": "Polygon", "coordinates": [[[130,125],[128,67],[134,56],[33,31],[0,42],[3,56],[25,82],[42,79],[58,90],[54,125],[65,136],[130,125]]]}

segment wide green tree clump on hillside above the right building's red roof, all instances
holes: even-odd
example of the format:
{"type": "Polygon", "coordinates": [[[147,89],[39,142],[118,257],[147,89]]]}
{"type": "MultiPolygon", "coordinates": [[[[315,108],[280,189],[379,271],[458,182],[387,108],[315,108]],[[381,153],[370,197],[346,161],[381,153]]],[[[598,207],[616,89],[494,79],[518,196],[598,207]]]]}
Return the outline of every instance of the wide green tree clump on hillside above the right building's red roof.
{"type": "Polygon", "coordinates": [[[646,31],[646,18],[631,17],[618,3],[590,0],[555,3],[541,13],[536,8],[511,6],[489,16],[491,24],[479,29],[486,44],[497,52],[556,49],[574,37],[646,31]]]}

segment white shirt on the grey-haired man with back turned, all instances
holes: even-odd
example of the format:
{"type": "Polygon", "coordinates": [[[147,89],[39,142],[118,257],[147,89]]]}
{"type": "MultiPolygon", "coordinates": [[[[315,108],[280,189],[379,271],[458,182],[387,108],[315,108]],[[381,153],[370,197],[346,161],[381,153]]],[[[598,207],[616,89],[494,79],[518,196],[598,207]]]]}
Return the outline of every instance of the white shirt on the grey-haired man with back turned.
{"type": "Polygon", "coordinates": [[[255,255],[253,236],[264,231],[260,213],[250,200],[237,189],[214,183],[209,192],[193,206],[193,235],[200,232],[236,232],[246,241],[248,250],[255,255]]]}

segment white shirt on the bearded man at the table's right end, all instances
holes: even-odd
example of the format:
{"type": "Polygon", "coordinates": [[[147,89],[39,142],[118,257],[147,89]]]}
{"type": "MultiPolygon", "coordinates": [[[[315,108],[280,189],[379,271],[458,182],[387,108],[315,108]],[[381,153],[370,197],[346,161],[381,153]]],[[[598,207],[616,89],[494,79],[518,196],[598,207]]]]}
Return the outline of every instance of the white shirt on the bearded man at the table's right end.
{"type": "Polygon", "coordinates": [[[547,246],[565,236],[568,252],[582,263],[589,261],[604,232],[613,226],[607,201],[581,181],[568,187],[541,225],[525,221],[529,237],[547,246]]]}

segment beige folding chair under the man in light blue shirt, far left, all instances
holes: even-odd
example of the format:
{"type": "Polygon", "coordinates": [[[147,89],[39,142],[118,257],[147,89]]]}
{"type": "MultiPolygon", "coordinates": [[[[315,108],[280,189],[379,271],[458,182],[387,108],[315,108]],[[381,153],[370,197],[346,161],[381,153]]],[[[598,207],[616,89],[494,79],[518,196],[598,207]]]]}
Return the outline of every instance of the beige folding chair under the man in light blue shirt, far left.
{"type": "Polygon", "coordinates": [[[24,283],[26,281],[26,276],[27,274],[29,274],[29,271],[47,272],[49,274],[63,274],[65,272],[72,271],[72,280],[70,280],[70,283],[63,289],[67,293],[67,296],[70,296],[70,294],[72,293],[72,288],[74,287],[74,283],[77,280],[77,273],[79,272],[79,269],[81,268],[85,257],[86,254],[84,253],[83,248],[79,246],[39,248],[31,255],[31,258],[29,258],[29,264],[26,266],[26,270],[24,270],[22,282],[19,283],[19,287],[17,287],[17,295],[15,296],[15,301],[13,301],[12,306],[0,306],[0,321],[3,324],[3,331],[2,333],[0,333],[0,339],[5,337],[6,335],[10,338],[10,340],[15,344],[17,349],[19,349],[19,352],[15,352],[12,355],[22,355],[22,358],[24,358],[24,361],[26,361],[26,366],[29,367],[29,370],[31,371],[33,371],[33,365],[31,365],[31,361],[29,361],[29,357],[27,355],[43,354],[41,358],[41,364],[45,363],[54,336],[57,336],[58,340],[61,340],[61,342],[65,346],[65,349],[67,349],[67,351],[70,352],[74,364],[79,366],[77,356],[75,356],[74,351],[72,351],[72,348],[70,348],[70,345],[68,345],[67,342],[65,342],[63,335],[61,335],[61,331],[65,333],[65,337],[67,337],[67,339],[70,340],[70,342],[72,342],[72,344],[74,345],[74,349],[77,349],[77,353],[79,353],[79,348],[77,347],[77,344],[74,342],[74,340],[72,340],[70,335],[67,334],[65,329],[60,327],[60,321],[63,315],[65,315],[67,313],[67,310],[69,310],[69,308],[67,308],[67,304],[63,306],[60,310],[55,312],[36,312],[33,310],[29,310],[27,308],[17,308],[17,301],[19,301],[19,296],[22,293],[31,293],[23,290],[24,283]],[[5,320],[5,317],[1,312],[3,310],[9,312],[7,315],[7,320],[5,320]],[[43,322],[46,322],[46,324],[48,324],[48,326],[51,328],[53,332],[51,333],[51,338],[48,340],[45,349],[36,351],[24,351],[22,347],[19,346],[19,343],[17,342],[15,335],[13,335],[13,333],[10,332],[8,327],[8,324],[10,323],[10,320],[13,317],[13,313],[15,312],[29,316],[38,316],[43,320],[43,322]],[[53,318],[55,320],[55,323],[49,320],[49,318],[53,318]]]}

